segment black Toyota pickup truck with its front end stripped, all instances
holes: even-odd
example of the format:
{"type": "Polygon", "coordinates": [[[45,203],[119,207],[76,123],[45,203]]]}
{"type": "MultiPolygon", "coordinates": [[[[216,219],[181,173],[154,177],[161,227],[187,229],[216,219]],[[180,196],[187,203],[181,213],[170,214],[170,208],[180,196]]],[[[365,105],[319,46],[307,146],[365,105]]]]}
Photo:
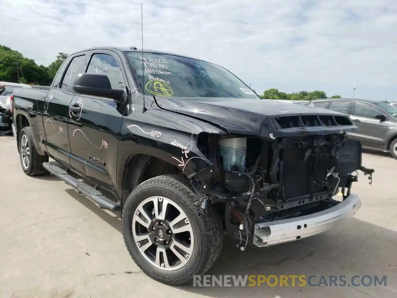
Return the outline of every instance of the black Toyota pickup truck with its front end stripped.
{"type": "Polygon", "coordinates": [[[348,116],[262,100],[216,64],[135,47],[70,55],[50,90],[15,91],[12,115],[23,171],[121,211],[131,257],[168,284],[206,272],[224,234],[243,251],[353,217],[353,173],[373,172],[348,116]]]}

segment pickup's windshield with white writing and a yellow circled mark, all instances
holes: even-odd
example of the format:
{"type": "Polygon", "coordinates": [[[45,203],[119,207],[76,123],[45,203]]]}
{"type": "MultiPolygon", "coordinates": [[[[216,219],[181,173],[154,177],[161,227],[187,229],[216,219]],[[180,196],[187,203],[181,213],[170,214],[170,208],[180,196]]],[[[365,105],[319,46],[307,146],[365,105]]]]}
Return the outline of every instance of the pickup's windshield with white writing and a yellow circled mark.
{"type": "Polygon", "coordinates": [[[141,90],[147,95],[259,98],[235,75],[212,63],[168,54],[125,54],[137,74],[141,90]]]}

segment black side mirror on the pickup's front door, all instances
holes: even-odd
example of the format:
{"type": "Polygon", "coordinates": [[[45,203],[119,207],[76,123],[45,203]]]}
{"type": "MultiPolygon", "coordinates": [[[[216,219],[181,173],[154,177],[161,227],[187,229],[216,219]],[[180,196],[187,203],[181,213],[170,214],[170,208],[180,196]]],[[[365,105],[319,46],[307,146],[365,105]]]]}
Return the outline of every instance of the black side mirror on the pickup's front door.
{"type": "Polygon", "coordinates": [[[125,89],[112,89],[107,75],[102,74],[79,74],[73,84],[76,93],[106,97],[113,99],[116,103],[125,103],[125,89]]]}

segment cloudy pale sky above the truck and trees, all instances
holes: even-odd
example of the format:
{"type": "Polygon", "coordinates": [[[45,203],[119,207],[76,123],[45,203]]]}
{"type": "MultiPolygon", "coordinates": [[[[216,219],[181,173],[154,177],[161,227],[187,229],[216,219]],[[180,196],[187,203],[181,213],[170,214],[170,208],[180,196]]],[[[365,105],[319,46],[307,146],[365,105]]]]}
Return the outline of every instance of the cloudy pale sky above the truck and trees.
{"type": "Polygon", "coordinates": [[[324,90],[397,101],[397,0],[0,0],[0,44],[58,52],[141,47],[231,70],[258,93],[324,90]],[[4,18],[5,17],[5,18],[4,18]]]}

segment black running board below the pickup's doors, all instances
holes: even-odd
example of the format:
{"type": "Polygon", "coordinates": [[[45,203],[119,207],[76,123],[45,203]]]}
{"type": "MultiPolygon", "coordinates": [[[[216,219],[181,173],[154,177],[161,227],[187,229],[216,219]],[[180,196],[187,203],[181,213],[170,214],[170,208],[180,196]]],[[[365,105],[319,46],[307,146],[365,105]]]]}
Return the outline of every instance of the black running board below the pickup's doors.
{"type": "Polygon", "coordinates": [[[121,209],[121,205],[112,201],[105,195],[103,195],[99,190],[96,190],[92,186],[81,182],[74,178],[73,176],[67,174],[64,168],[61,168],[62,165],[57,162],[46,162],[43,163],[43,167],[53,174],[54,176],[58,177],[60,180],[64,181],[66,184],[70,185],[71,187],[75,188],[75,190],[82,195],[88,197],[91,201],[98,204],[100,207],[110,211],[118,211],[121,209]]]}

